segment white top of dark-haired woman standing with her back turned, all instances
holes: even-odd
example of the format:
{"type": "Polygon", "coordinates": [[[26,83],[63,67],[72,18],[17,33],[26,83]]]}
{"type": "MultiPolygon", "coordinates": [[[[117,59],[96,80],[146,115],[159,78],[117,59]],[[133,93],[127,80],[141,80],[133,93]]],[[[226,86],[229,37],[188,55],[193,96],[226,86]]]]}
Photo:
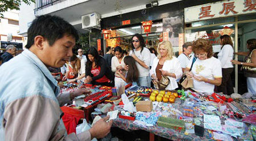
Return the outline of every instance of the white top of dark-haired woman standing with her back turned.
{"type": "Polygon", "coordinates": [[[221,62],[222,68],[232,68],[232,62],[230,60],[233,59],[234,50],[231,45],[224,45],[223,48],[218,53],[218,59],[221,62]]]}

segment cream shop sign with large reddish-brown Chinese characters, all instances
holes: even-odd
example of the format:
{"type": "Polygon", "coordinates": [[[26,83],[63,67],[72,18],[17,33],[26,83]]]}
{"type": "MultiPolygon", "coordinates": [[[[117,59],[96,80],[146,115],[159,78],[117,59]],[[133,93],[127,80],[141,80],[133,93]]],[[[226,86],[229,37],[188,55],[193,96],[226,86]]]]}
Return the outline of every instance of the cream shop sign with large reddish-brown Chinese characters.
{"type": "Polygon", "coordinates": [[[185,8],[185,23],[256,12],[255,0],[230,0],[185,8]]]}

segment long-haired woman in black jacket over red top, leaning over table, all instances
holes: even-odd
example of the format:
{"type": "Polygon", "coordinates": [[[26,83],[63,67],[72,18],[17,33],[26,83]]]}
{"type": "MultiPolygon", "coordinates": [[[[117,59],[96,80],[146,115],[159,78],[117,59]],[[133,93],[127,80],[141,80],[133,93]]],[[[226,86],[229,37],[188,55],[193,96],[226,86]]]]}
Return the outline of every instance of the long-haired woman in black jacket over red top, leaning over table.
{"type": "Polygon", "coordinates": [[[87,62],[85,66],[84,83],[92,83],[93,85],[112,86],[112,72],[105,59],[98,55],[96,48],[91,47],[87,54],[87,62]]]}

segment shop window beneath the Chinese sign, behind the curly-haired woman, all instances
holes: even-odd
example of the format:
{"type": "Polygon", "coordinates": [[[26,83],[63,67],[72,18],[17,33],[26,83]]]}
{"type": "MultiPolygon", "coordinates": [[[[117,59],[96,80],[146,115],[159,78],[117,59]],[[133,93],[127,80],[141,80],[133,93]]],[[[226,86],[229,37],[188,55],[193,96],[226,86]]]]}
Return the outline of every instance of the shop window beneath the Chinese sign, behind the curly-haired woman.
{"type": "Polygon", "coordinates": [[[234,24],[224,24],[213,27],[204,27],[185,30],[185,41],[195,41],[199,38],[208,39],[213,45],[213,52],[220,52],[220,36],[230,35],[234,44],[234,24]]]}

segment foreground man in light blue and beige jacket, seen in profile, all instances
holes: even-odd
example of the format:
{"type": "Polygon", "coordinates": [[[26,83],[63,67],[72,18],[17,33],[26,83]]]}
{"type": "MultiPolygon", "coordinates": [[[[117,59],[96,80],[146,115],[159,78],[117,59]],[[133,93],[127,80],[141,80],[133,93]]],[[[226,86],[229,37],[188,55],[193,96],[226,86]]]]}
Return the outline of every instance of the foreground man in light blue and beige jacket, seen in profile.
{"type": "Polygon", "coordinates": [[[60,105],[87,89],[61,93],[47,67],[61,67],[73,55],[79,35],[65,20],[50,15],[36,18],[28,28],[21,54],[0,67],[1,140],[91,140],[107,135],[109,117],[80,134],[67,135],[60,105]]]}

